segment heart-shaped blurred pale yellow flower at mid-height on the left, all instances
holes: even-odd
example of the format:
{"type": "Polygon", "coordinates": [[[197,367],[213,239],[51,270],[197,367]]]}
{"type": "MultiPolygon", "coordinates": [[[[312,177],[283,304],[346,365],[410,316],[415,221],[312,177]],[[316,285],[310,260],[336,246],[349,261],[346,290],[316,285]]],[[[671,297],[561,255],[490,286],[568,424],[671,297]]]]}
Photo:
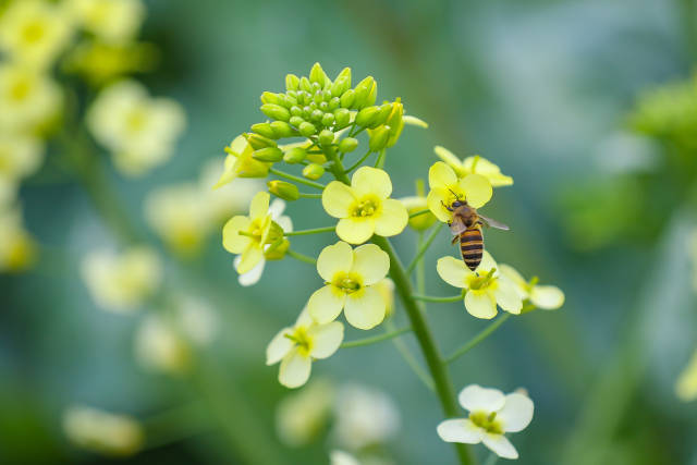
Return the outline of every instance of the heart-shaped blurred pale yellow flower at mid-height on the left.
{"type": "Polygon", "coordinates": [[[100,307],[132,311],[159,286],[162,265],[157,254],[147,247],[132,247],[119,255],[95,250],[83,259],[82,274],[100,307]]]}

